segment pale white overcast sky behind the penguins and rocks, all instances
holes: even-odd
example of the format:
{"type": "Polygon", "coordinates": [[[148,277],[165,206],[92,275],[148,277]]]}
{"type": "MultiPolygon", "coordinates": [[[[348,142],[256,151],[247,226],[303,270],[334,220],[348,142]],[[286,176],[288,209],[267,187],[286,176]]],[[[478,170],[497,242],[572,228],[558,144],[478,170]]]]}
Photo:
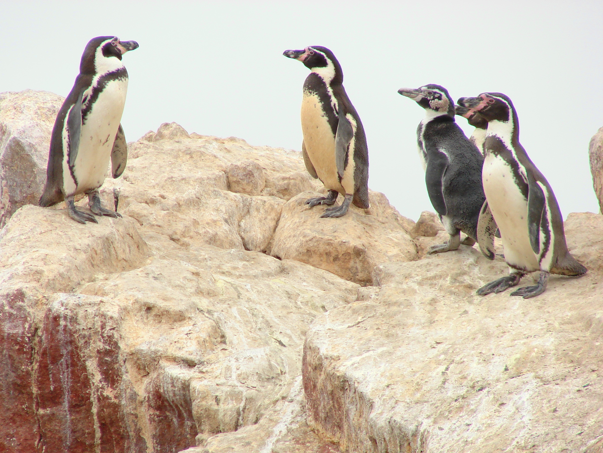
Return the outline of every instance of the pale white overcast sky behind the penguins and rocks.
{"type": "MultiPolygon", "coordinates": [[[[65,96],[86,42],[140,48],[122,125],[129,141],[162,122],[252,145],[300,150],[308,69],[285,49],[326,46],[367,133],[370,188],[417,220],[433,211],[417,156],[423,110],[400,87],[437,83],[456,101],[513,100],[520,141],[564,217],[598,212],[590,138],[603,126],[603,2],[27,2],[0,1],[0,92],[65,96]]],[[[458,123],[470,134],[463,118],[458,123]]]]}

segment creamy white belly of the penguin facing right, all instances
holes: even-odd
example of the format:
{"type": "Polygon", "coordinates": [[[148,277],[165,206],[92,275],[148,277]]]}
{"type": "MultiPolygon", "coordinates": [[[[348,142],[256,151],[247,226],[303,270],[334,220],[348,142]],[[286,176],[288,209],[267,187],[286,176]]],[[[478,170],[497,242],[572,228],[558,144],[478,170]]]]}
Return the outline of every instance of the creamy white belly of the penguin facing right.
{"type": "Polygon", "coordinates": [[[127,80],[112,80],[96,98],[81,127],[80,147],[73,168],[75,181],[71,177],[64,178],[66,196],[88,192],[103,185],[124,112],[127,89],[127,80]]]}

